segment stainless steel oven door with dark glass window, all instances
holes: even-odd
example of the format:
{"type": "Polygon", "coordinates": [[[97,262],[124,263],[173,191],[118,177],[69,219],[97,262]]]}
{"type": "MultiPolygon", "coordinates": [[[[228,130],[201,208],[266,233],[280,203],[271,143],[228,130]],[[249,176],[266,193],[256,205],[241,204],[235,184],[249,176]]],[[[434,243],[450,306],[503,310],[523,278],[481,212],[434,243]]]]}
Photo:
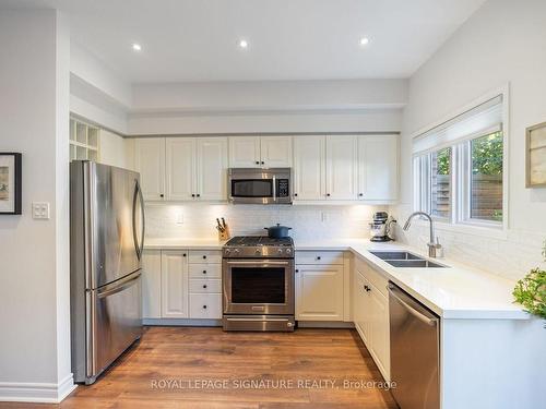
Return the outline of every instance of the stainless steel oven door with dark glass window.
{"type": "Polygon", "coordinates": [[[224,260],[224,314],[294,315],[294,260],[224,260]]]}

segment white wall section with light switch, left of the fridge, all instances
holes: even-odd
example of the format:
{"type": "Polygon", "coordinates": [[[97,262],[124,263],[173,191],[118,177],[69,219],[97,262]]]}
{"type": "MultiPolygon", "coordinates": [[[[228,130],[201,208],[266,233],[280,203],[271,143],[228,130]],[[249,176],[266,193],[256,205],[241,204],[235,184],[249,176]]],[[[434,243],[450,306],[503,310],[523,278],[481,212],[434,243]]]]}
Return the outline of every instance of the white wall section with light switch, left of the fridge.
{"type": "Polygon", "coordinates": [[[23,215],[0,217],[0,400],[58,400],[70,373],[67,22],[0,14],[0,151],[23,154],[23,215]],[[49,202],[34,220],[31,203],[49,202]]]}

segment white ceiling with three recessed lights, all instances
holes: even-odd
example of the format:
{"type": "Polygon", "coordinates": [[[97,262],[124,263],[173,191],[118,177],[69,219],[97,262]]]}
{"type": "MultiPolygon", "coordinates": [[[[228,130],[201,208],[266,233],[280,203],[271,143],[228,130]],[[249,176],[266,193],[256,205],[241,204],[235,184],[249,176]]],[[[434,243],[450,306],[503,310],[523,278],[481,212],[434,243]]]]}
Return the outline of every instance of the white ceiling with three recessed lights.
{"type": "Polygon", "coordinates": [[[132,83],[408,77],[485,0],[0,0],[70,16],[132,83]],[[366,47],[363,36],[370,38],[366,47]],[[237,41],[245,38],[249,48],[237,41]],[[142,45],[141,52],[131,49],[142,45]]]}

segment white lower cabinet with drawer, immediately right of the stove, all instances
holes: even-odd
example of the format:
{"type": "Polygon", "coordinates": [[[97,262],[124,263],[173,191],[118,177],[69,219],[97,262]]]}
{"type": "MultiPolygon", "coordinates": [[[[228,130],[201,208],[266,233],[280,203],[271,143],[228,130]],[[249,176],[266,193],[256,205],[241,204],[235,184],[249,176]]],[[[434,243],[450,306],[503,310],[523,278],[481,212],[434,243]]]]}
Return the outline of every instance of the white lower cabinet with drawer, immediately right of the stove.
{"type": "Polygon", "coordinates": [[[342,252],[296,253],[296,320],[344,320],[342,252]]]}

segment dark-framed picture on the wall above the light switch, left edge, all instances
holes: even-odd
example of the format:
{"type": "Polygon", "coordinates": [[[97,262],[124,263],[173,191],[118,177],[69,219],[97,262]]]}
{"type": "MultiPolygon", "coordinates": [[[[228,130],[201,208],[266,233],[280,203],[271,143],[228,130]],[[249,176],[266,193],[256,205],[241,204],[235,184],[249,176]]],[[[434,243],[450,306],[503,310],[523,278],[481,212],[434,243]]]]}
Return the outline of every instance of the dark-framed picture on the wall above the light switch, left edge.
{"type": "Polygon", "coordinates": [[[21,158],[0,152],[0,215],[21,214],[21,158]]]}

